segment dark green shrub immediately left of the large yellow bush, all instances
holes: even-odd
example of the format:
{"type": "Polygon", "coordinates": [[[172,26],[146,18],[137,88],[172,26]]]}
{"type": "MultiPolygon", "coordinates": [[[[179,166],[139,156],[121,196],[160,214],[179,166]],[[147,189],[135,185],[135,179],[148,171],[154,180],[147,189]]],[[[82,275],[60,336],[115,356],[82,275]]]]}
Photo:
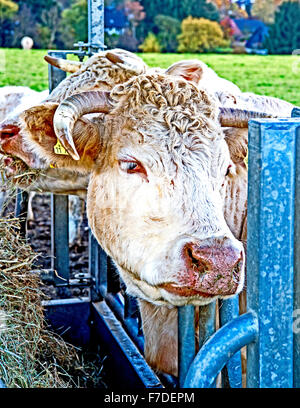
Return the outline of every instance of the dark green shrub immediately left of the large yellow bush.
{"type": "Polygon", "coordinates": [[[159,14],[154,20],[159,27],[157,39],[164,52],[175,52],[178,47],[177,36],[180,33],[180,21],[176,18],[159,14]]]}

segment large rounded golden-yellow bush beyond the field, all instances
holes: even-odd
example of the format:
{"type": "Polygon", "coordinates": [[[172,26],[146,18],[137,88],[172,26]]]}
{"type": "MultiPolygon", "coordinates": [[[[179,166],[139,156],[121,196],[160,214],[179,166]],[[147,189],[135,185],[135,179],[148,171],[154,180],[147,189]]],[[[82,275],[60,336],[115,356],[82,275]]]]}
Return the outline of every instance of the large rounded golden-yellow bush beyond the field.
{"type": "Polygon", "coordinates": [[[229,46],[216,21],[188,17],[181,23],[178,52],[208,52],[229,46]]]}

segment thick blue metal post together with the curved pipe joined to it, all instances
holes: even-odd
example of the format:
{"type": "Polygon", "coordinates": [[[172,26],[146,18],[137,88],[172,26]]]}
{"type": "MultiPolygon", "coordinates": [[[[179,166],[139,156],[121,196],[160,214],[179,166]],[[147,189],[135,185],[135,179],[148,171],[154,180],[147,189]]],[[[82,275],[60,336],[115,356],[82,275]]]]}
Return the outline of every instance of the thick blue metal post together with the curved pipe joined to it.
{"type": "Polygon", "coordinates": [[[299,387],[299,330],[293,321],[300,293],[299,143],[300,119],[250,123],[249,311],[204,344],[189,367],[185,387],[212,387],[229,358],[245,345],[247,387],[299,387]]]}

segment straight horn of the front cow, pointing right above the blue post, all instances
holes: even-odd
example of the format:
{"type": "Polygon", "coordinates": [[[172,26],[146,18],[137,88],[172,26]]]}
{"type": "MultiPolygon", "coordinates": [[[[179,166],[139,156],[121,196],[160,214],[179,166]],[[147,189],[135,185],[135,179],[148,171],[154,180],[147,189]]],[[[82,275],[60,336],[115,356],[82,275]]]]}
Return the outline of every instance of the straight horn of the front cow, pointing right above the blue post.
{"type": "Polygon", "coordinates": [[[266,112],[248,111],[245,109],[219,108],[219,121],[222,127],[247,128],[251,119],[276,118],[266,112]]]}

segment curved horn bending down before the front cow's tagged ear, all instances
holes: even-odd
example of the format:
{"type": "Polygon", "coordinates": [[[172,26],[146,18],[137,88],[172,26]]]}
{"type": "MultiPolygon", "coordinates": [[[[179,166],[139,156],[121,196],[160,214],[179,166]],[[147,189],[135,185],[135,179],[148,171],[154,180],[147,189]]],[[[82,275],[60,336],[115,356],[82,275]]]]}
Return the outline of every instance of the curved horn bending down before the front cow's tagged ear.
{"type": "Polygon", "coordinates": [[[72,136],[76,121],[88,113],[109,113],[111,109],[109,92],[104,91],[82,92],[60,103],[53,118],[54,131],[74,160],[80,160],[72,136]]]}

